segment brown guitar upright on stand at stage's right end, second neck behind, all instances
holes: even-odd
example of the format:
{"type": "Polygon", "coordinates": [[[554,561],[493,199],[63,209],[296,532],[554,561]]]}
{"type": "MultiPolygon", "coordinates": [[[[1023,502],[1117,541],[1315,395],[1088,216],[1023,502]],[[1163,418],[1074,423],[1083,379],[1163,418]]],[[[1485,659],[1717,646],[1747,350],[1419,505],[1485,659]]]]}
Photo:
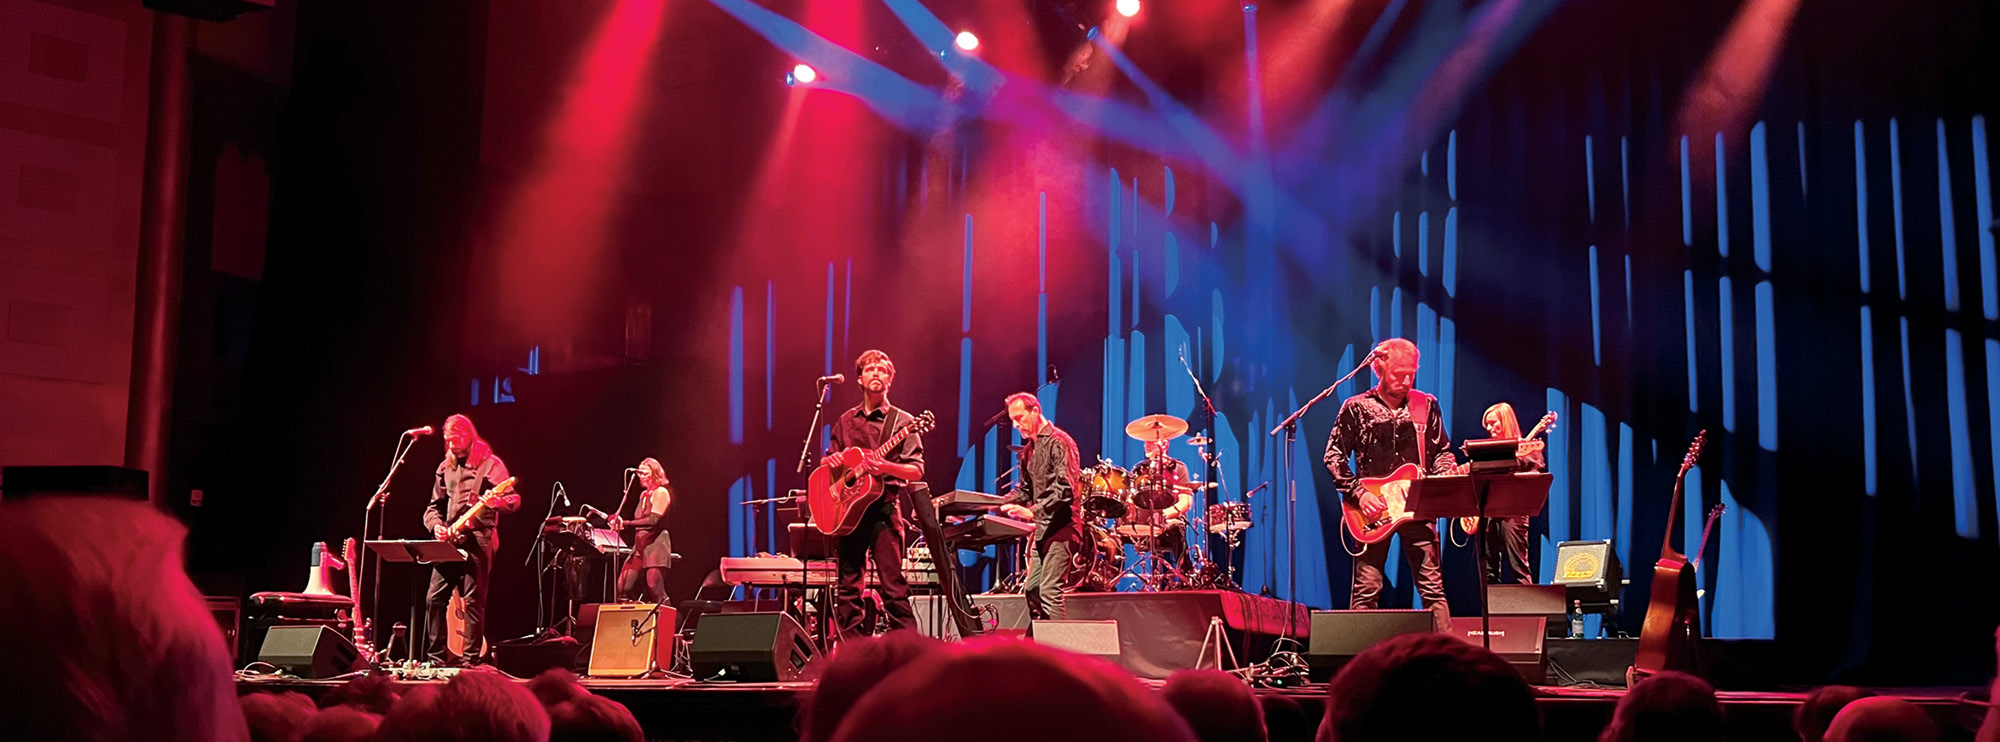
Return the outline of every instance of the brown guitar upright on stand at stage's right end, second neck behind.
{"type": "Polygon", "coordinates": [[[1724,506],[1708,510],[1702,526],[1702,542],[1694,544],[1694,558],[1674,550],[1674,526],[1680,516],[1680,498],[1688,480],[1688,470],[1702,456],[1702,442],[1708,432],[1694,434],[1688,456],[1680,460],[1680,474],[1674,476],[1674,500],[1666,508],[1666,536],[1660,540],[1660,562],[1652,566],[1652,600],[1646,604],[1646,626],[1640,630],[1638,654],[1626,668],[1626,688],[1644,676],[1662,670],[1690,670],[1688,656],[1702,630],[1700,598],[1694,590],[1694,570],[1702,560],[1702,546],[1724,506]]]}

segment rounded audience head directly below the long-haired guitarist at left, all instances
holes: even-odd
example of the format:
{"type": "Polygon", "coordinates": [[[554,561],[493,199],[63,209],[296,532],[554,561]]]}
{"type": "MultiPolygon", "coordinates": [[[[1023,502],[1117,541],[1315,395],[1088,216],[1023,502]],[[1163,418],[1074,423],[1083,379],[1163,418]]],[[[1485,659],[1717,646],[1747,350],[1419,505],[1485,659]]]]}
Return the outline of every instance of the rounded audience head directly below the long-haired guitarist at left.
{"type": "Polygon", "coordinates": [[[542,742],[548,712],[520,684],[492,672],[410,690],[382,718],[378,742],[542,742]]]}

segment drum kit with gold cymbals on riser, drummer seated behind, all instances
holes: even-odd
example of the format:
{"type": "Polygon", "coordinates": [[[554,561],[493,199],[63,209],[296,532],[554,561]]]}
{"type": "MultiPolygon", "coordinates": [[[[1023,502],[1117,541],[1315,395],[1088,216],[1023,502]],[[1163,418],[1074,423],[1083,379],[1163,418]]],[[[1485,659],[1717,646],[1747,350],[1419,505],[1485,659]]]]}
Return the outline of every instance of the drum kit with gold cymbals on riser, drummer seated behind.
{"type": "MultiPolygon", "coordinates": [[[[1126,436],[1146,444],[1186,432],[1188,422],[1170,414],[1148,414],[1126,424],[1126,436]]],[[[1210,460],[1212,438],[1194,436],[1188,444],[1196,446],[1202,460],[1210,460]]],[[[1196,516],[1194,496],[1214,484],[1190,478],[1188,466],[1170,456],[1148,456],[1132,468],[1100,458],[1082,472],[1080,484],[1088,544],[1072,566],[1076,590],[1116,590],[1124,578],[1134,578],[1140,590],[1236,588],[1226,570],[1230,558],[1212,562],[1206,538],[1188,538],[1188,532],[1222,536],[1234,552],[1242,532],[1250,528],[1248,504],[1216,502],[1196,516]],[[1126,566],[1126,546],[1138,554],[1132,566],[1126,566]]]]}

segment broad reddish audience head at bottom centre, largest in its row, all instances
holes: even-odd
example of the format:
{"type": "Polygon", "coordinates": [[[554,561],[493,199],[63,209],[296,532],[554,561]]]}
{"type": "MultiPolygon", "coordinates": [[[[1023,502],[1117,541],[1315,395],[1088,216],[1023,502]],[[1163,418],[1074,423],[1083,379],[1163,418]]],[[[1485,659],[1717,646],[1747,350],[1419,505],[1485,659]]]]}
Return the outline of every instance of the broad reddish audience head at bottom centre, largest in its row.
{"type": "Polygon", "coordinates": [[[934,652],[862,696],[836,742],[1192,740],[1158,694],[1102,660],[1018,640],[972,640],[934,652]],[[912,702],[922,698],[922,702],[912,702]],[[982,714],[966,724],[968,710],[982,714]]]}

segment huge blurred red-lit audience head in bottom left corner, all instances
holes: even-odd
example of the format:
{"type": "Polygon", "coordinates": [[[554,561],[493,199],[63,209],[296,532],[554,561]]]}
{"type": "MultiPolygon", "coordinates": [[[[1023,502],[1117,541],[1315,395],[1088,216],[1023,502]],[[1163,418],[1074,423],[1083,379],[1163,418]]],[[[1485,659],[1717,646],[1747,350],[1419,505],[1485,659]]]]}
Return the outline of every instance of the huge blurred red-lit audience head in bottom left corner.
{"type": "Polygon", "coordinates": [[[0,504],[0,730],[246,740],[230,654],[182,570],[186,528],[130,500],[0,504]]]}

